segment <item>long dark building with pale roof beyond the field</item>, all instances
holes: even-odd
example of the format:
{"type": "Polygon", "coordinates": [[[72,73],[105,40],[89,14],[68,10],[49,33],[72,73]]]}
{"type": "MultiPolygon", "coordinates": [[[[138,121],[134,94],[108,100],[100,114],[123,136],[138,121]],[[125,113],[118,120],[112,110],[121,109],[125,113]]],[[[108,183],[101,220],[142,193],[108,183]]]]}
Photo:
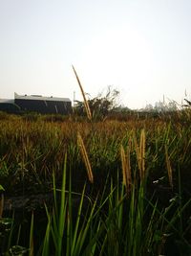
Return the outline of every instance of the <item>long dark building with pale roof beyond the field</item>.
{"type": "Polygon", "coordinates": [[[0,110],[10,113],[27,111],[42,114],[69,114],[72,111],[72,102],[68,98],[14,93],[14,100],[0,100],[0,110]]]}

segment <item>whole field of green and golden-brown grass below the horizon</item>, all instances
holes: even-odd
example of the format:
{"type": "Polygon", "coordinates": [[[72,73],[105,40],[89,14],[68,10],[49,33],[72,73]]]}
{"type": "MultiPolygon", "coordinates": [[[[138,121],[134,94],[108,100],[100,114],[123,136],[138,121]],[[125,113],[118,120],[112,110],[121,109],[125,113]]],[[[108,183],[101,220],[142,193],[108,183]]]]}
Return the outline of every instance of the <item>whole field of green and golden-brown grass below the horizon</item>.
{"type": "Polygon", "coordinates": [[[191,255],[190,134],[189,109],[104,122],[1,113],[5,201],[53,195],[18,219],[1,203],[3,255],[191,255]]]}

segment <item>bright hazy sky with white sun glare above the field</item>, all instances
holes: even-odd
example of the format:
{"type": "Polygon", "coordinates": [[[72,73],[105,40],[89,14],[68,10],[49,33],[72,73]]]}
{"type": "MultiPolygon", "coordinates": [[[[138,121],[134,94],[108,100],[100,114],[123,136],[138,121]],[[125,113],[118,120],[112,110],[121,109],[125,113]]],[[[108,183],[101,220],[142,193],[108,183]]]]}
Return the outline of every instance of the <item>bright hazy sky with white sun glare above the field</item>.
{"type": "Polygon", "coordinates": [[[0,98],[191,99],[190,0],[0,0],[0,98]]]}

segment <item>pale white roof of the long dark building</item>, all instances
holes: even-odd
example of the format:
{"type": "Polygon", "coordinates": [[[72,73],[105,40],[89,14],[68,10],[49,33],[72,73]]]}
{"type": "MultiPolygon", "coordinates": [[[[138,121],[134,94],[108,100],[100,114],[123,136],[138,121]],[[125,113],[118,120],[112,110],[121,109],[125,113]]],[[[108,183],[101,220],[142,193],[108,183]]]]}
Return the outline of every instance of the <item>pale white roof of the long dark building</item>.
{"type": "Polygon", "coordinates": [[[53,102],[71,102],[69,98],[45,97],[42,95],[18,95],[14,93],[14,99],[19,100],[36,100],[36,101],[53,101],[53,102]]]}

